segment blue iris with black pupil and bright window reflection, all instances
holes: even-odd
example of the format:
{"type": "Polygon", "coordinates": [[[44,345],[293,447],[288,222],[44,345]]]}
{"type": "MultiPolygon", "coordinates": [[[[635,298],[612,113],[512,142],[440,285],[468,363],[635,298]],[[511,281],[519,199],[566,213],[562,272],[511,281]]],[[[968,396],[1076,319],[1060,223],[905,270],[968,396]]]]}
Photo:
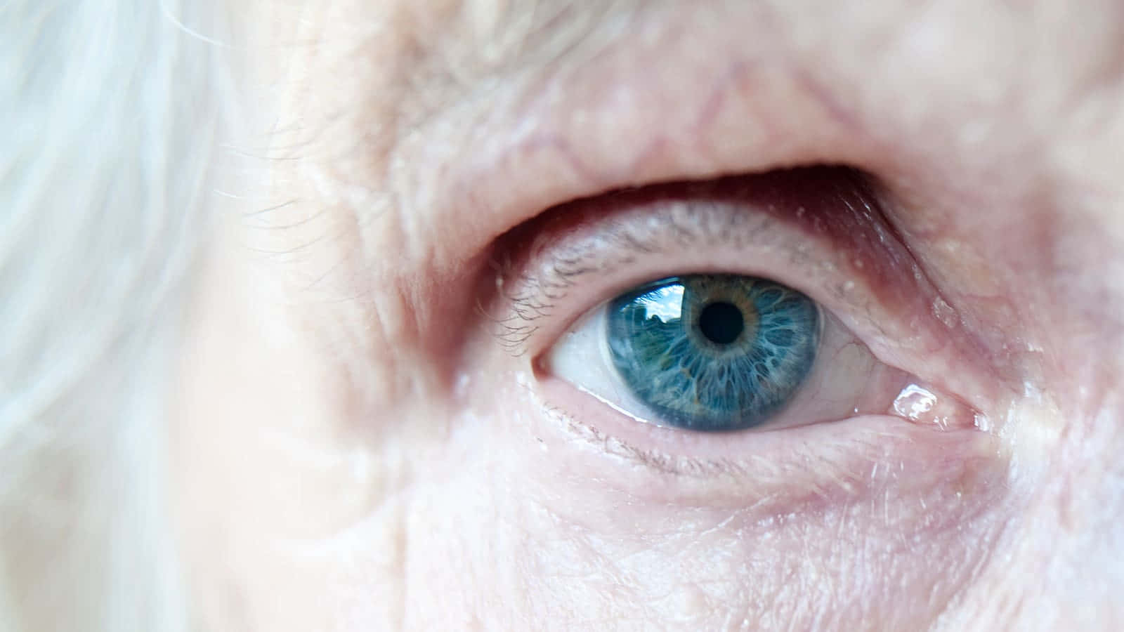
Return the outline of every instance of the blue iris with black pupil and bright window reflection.
{"type": "Polygon", "coordinates": [[[792,398],[816,356],[819,310],[767,279],[691,274],[615,298],[607,335],[620,377],[662,423],[733,431],[792,398]]]}

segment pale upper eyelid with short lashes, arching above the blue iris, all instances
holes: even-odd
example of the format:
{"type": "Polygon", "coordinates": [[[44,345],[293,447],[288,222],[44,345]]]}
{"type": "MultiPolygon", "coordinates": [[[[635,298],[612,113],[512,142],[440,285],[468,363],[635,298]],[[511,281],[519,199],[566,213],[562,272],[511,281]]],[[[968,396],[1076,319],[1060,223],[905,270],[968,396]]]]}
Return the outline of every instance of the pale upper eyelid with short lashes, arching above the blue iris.
{"type": "MultiPolygon", "coordinates": [[[[781,252],[786,264],[798,267],[805,279],[824,270],[828,271],[826,276],[839,277],[839,268],[845,265],[839,258],[850,253],[840,252],[845,249],[837,244],[817,244],[826,240],[824,235],[810,234],[812,227],[823,225],[814,215],[815,209],[809,208],[807,216],[800,217],[803,207],[795,216],[787,214],[787,208],[773,205],[763,208],[752,200],[737,199],[737,189],[733,179],[717,187],[703,183],[658,186],[563,205],[549,211],[546,217],[537,218],[537,225],[525,228],[534,232],[534,237],[524,241],[522,252],[515,253],[514,261],[500,268],[499,285],[506,303],[500,312],[504,316],[499,318],[501,341],[522,351],[523,340],[536,328],[534,322],[552,314],[570,290],[583,282],[583,277],[620,276],[620,271],[637,259],[673,249],[713,249],[716,244],[726,250],[755,249],[759,253],[761,249],[769,249],[781,252]],[[669,192],[672,195],[668,196],[669,192]]],[[[871,263],[854,278],[862,279],[864,272],[876,270],[871,263]]],[[[667,270],[669,273],[698,271],[701,270],[667,270]]],[[[713,271],[746,272],[741,268],[713,271]]],[[[776,270],[756,272],[777,276],[776,270]]],[[[824,291],[822,287],[801,288],[795,282],[797,279],[781,280],[809,295],[824,291]]],[[[863,294],[863,286],[869,283],[852,280],[836,289],[863,294]]],[[[867,303],[867,299],[859,303],[867,303]]]]}

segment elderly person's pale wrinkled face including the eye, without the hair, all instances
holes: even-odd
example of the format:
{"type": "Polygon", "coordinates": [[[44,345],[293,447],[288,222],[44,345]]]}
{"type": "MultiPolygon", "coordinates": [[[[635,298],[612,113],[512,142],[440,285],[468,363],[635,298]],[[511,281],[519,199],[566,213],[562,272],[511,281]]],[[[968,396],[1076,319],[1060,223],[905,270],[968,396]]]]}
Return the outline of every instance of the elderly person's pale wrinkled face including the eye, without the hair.
{"type": "Polygon", "coordinates": [[[1124,4],[513,4],[246,16],[206,623],[1124,624],[1124,4]]]}

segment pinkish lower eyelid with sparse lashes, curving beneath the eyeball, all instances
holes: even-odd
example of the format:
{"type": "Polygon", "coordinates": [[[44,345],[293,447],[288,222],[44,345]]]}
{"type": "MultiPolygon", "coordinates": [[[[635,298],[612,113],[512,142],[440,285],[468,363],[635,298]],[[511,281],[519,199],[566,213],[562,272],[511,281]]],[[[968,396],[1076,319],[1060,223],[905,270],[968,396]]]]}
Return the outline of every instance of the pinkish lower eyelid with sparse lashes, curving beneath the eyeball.
{"type": "Polygon", "coordinates": [[[854,502],[871,493],[871,471],[878,468],[883,476],[887,468],[900,470],[895,485],[918,489],[950,481],[969,486],[1005,472],[998,437],[976,430],[941,431],[900,417],[862,415],[715,441],[713,434],[638,424],[566,390],[573,388],[547,376],[533,392],[546,425],[537,435],[553,452],[549,461],[645,502],[787,511],[854,502]],[[575,442],[588,449],[575,449],[575,442]]]}

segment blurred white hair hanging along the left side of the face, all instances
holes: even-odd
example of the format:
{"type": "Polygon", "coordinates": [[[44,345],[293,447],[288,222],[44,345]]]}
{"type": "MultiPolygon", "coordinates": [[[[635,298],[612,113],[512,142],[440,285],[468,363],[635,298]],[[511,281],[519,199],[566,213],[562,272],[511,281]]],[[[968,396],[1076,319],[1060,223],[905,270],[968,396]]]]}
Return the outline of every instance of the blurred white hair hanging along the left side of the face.
{"type": "Polygon", "coordinates": [[[191,626],[163,455],[230,93],[211,4],[0,1],[0,631],[191,626]]]}

